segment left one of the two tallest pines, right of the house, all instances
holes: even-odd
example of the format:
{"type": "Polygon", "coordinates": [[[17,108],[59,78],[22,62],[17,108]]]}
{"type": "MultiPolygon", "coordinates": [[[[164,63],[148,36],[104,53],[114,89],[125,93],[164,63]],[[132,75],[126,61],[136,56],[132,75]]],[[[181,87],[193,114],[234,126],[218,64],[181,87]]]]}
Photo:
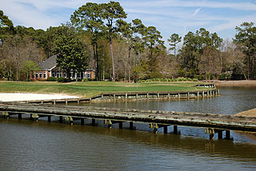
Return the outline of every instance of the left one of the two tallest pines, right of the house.
{"type": "Polygon", "coordinates": [[[98,40],[101,35],[102,28],[102,5],[97,3],[87,2],[71,15],[70,21],[79,29],[87,29],[90,31],[90,41],[94,51],[94,61],[96,68],[96,79],[99,79],[99,60],[98,60],[98,40]]]}

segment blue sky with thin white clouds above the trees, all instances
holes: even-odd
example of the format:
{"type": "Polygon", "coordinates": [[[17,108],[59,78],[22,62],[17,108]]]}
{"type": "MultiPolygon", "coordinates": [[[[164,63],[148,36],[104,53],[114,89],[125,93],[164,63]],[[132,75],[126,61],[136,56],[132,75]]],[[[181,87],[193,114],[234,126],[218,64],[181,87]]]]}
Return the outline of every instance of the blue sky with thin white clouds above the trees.
{"type": "MultiPolygon", "coordinates": [[[[15,26],[46,30],[70,20],[70,15],[86,2],[106,0],[0,0],[0,9],[15,26]]],[[[164,41],[171,34],[182,37],[189,31],[206,28],[221,38],[234,38],[235,26],[256,22],[256,0],[119,0],[128,14],[126,21],[142,19],[155,26],[164,41]]]]}

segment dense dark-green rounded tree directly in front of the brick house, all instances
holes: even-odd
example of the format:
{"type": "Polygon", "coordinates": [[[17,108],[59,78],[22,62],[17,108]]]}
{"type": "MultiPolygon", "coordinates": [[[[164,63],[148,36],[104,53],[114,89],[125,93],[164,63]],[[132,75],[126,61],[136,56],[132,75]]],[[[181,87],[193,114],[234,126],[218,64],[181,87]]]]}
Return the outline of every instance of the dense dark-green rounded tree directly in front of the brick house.
{"type": "Polygon", "coordinates": [[[66,70],[70,80],[70,71],[86,70],[88,56],[85,46],[76,35],[74,27],[59,26],[58,39],[55,41],[54,52],[57,54],[57,63],[62,70],[66,70]]]}

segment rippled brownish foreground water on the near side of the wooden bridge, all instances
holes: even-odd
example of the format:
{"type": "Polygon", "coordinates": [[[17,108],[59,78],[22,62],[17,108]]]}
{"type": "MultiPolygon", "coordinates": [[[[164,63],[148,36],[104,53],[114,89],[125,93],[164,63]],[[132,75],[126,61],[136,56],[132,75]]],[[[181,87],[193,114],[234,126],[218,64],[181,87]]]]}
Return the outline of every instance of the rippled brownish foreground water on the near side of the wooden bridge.
{"type": "Polygon", "coordinates": [[[6,130],[0,133],[0,155],[5,156],[1,165],[8,165],[10,170],[132,170],[145,166],[156,169],[158,165],[162,169],[186,169],[184,162],[198,170],[219,164],[225,164],[225,169],[228,163],[255,169],[256,164],[256,146],[248,143],[46,121],[1,118],[0,123],[0,129],[6,130]],[[12,158],[15,162],[10,162],[12,158]]]}

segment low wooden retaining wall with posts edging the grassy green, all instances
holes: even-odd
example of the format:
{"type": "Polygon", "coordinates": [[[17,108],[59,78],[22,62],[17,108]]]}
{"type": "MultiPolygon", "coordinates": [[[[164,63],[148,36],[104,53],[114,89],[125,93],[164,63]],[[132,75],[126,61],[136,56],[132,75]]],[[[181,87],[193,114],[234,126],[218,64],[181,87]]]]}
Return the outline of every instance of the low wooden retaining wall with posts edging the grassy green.
{"type": "Polygon", "coordinates": [[[189,100],[202,99],[207,97],[216,97],[219,95],[219,89],[207,89],[197,91],[159,91],[159,92],[127,92],[127,93],[101,93],[88,98],[71,99],[51,99],[36,101],[15,101],[20,103],[38,103],[38,104],[64,104],[97,102],[97,101],[145,101],[145,100],[189,100]]]}

